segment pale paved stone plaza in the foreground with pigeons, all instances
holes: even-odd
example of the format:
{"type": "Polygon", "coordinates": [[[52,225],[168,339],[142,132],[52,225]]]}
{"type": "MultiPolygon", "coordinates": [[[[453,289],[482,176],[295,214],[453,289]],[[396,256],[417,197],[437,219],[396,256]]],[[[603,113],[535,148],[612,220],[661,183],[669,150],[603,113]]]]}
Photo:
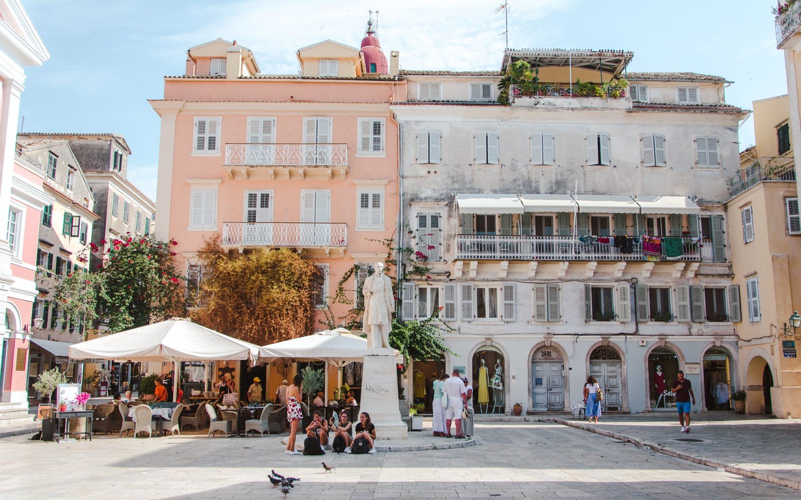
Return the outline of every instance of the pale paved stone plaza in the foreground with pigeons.
{"type": "MultiPolygon", "coordinates": [[[[280,498],[266,474],[302,478],[289,498],[793,498],[720,472],[549,422],[477,423],[478,446],[287,456],[283,436],[0,439],[2,498],[280,498]],[[321,461],[336,466],[324,474],[321,461]]],[[[678,436],[678,430],[676,431],[678,436]]],[[[701,434],[700,432],[698,434],[701,434]]],[[[692,435],[692,434],[690,434],[692,435]]]]}

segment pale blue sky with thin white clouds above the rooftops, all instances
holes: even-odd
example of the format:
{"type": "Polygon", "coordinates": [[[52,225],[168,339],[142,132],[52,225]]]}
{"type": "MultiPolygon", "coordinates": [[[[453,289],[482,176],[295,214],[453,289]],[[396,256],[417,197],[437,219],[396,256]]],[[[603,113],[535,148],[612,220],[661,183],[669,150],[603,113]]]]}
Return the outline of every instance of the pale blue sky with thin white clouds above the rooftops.
{"type": "MultiPolygon", "coordinates": [[[[399,50],[401,69],[499,70],[505,48],[505,18],[493,12],[501,0],[22,3],[50,51],[26,71],[22,130],[123,135],[128,178],[154,200],[160,121],[147,99],[163,96],[164,76],[184,73],[191,46],[237,40],[262,73],[296,74],[300,47],[328,38],[358,47],[372,10],[384,53],[399,50]]],[[[774,4],[511,0],[509,48],[631,50],[628,70],[723,76],[735,82],[727,102],[751,110],[787,93],[774,4]]],[[[752,118],[739,140],[740,150],[754,143],[752,118]]]]}

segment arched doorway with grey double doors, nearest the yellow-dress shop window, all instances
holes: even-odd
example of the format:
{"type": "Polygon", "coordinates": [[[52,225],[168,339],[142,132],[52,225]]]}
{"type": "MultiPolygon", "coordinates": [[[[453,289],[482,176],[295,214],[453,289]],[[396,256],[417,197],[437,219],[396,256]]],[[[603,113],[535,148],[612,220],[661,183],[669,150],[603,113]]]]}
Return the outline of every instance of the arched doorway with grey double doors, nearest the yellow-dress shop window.
{"type": "Polygon", "coordinates": [[[534,411],[565,409],[565,360],[553,346],[542,346],[531,356],[531,393],[534,411]]]}

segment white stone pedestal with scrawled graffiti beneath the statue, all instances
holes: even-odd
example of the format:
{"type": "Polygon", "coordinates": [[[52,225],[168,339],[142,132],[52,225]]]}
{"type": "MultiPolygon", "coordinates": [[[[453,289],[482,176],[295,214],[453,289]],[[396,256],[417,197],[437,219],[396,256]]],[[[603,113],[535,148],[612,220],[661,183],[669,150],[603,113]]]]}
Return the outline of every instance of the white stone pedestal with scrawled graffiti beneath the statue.
{"type": "MultiPolygon", "coordinates": [[[[409,428],[400,420],[398,378],[391,349],[374,349],[364,356],[359,411],[370,415],[377,439],[406,439],[409,428]]],[[[359,422],[358,418],[355,422],[359,422]]],[[[354,425],[356,425],[354,422],[354,425]]]]}

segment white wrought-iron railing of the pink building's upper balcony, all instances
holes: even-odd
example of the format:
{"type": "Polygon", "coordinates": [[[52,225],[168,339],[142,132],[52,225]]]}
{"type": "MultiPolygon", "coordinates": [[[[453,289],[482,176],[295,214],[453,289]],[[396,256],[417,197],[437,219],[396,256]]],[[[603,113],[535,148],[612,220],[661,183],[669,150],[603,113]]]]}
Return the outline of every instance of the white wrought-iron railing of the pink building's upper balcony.
{"type": "Polygon", "coordinates": [[[226,144],[231,166],[347,166],[347,144],[226,144]]]}

